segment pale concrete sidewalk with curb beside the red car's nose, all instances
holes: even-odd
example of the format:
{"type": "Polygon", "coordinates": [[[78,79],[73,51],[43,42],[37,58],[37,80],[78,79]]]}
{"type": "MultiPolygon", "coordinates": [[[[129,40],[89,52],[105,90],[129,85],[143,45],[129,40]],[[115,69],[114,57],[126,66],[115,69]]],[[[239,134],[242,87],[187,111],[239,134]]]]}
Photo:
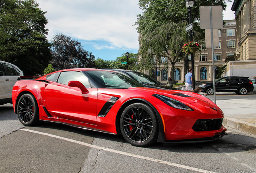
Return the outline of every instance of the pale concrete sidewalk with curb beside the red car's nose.
{"type": "Polygon", "coordinates": [[[224,113],[223,125],[256,135],[256,99],[216,101],[224,113]]]}

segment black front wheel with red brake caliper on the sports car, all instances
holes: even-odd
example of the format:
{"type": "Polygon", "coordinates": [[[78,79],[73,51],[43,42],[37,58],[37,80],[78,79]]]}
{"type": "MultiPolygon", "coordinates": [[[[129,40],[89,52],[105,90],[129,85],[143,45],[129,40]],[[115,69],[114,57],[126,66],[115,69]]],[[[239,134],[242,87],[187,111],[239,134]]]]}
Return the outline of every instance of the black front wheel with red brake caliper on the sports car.
{"type": "Polygon", "coordinates": [[[158,135],[155,111],[143,103],[128,106],[121,115],[120,129],[128,143],[138,147],[152,145],[158,135]]]}

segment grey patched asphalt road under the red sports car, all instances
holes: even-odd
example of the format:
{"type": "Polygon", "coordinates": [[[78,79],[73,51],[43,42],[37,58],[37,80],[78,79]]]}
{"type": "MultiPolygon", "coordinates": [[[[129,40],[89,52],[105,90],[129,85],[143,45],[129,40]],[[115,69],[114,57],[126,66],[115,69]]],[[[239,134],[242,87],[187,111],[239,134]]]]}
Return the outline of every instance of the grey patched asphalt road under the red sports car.
{"type": "Polygon", "coordinates": [[[12,105],[0,106],[0,173],[255,173],[255,161],[256,136],[230,128],[212,142],[141,148],[66,125],[24,127],[12,105]]]}

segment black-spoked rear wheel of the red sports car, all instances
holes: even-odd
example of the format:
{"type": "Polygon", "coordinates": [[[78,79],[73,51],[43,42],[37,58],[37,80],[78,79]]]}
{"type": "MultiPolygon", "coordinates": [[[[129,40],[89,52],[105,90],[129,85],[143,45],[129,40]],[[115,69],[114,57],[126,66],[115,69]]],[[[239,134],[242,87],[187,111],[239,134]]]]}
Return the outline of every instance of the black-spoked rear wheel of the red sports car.
{"type": "Polygon", "coordinates": [[[35,97],[31,94],[22,95],[18,101],[17,114],[25,126],[36,125],[39,122],[39,109],[35,97]]]}

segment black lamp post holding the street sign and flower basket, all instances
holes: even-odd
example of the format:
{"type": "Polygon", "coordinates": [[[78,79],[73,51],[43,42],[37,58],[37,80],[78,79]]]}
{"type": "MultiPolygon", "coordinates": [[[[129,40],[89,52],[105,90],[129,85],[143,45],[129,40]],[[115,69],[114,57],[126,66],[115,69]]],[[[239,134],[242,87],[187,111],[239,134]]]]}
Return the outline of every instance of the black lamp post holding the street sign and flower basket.
{"type": "MultiPolygon", "coordinates": [[[[194,0],[186,0],[186,7],[188,8],[188,17],[189,17],[189,24],[192,23],[192,8],[194,6],[194,0]]],[[[189,38],[190,41],[193,41],[193,32],[192,30],[189,31],[189,38]]],[[[191,68],[192,68],[192,84],[193,84],[193,90],[195,87],[195,71],[194,71],[194,53],[191,52],[191,68]]]]}

